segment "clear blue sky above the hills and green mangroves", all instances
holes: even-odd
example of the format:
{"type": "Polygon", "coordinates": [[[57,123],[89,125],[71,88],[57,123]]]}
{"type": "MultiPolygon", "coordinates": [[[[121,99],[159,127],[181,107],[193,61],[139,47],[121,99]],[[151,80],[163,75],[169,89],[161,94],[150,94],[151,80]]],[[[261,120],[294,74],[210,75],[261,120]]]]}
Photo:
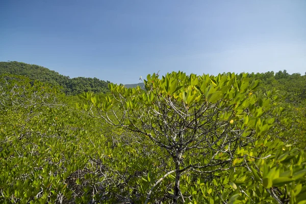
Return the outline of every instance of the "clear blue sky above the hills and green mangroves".
{"type": "Polygon", "coordinates": [[[73,77],[306,71],[306,1],[2,0],[0,61],[73,77]]]}

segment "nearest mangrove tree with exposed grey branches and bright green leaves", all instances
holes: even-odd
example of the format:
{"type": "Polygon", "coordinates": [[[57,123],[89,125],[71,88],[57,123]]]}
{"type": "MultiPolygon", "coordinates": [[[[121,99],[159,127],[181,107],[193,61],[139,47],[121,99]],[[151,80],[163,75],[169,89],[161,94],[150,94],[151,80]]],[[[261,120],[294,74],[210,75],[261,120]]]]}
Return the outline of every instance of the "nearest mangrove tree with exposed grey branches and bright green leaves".
{"type": "MultiPolygon", "coordinates": [[[[171,192],[173,203],[177,203],[180,197],[183,201],[184,197],[190,197],[181,190],[182,174],[200,174],[207,178],[213,177],[215,172],[228,173],[233,169],[236,172],[238,167],[251,171],[253,157],[246,158],[248,154],[236,155],[238,149],[246,146],[253,149],[255,147],[251,144],[264,138],[277,143],[271,136],[280,132],[290,136],[286,127],[291,126],[294,121],[288,121],[287,117],[281,116],[285,113],[284,108],[277,106],[277,97],[270,98],[271,92],[267,93],[267,96],[262,92],[253,94],[258,90],[259,82],[247,75],[228,73],[212,77],[195,74],[187,76],[182,72],[172,72],[162,79],[157,74],[148,75],[144,81],[146,91],[139,87],[126,89],[110,84],[113,97],[107,97],[106,101],[102,102],[97,96],[88,97],[91,106],[85,104],[84,109],[95,108],[98,114],[91,112],[93,116],[101,117],[114,126],[139,133],[168,153],[173,165],[162,179],[170,173],[175,173],[171,192]],[[243,164],[242,157],[245,160],[243,164]]],[[[283,135],[283,138],[286,136],[283,135]]],[[[260,148],[257,151],[263,152],[260,148]]],[[[259,155],[256,158],[266,157],[259,155]]],[[[258,165],[256,167],[259,168],[258,165]]],[[[242,176],[246,170],[241,170],[244,173],[239,175],[242,176]]],[[[303,168],[299,170],[304,171],[303,168]]],[[[256,173],[255,170],[253,172],[256,173]]],[[[265,174],[263,176],[265,177],[265,174]]],[[[271,185],[269,183],[266,187],[266,192],[275,200],[286,199],[286,192],[280,195],[273,192],[272,180],[283,181],[279,175],[273,176],[268,177],[271,185]]],[[[146,202],[160,181],[152,186],[146,202]]],[[[242,191],[247,189],[248,187],[245,187],[242,191]]],[[[226,192],[225,189],[220,191],[226,192]]],[[[252,194],[254,195],[254,192],[252,194]]],[[[243,199],[255,199],[246,195],[243,199]]],[[[259,196],[260,194],[256,195],[259,196]]],[[[224,199],[221,195],[214,197],[214,200],[219,202],[224,199]]]]}

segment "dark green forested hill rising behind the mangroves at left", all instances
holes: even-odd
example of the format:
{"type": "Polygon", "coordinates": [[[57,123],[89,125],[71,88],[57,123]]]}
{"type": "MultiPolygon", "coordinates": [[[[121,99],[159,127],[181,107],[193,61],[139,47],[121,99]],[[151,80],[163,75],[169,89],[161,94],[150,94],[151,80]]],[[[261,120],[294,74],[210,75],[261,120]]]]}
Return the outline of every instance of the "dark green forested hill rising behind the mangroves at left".
{"type": "Polygon", "coordinates": [[[70,79],[48,68],[23,62],[0,62],[0,74],[3,73],[26,75],[32,80],[61,86],[63,87],[63,91],[68,95],[77,95],[84,91],[92,91],[95,93],[108,92],[108,82],[97,78],[78,77],[70,79]]]}

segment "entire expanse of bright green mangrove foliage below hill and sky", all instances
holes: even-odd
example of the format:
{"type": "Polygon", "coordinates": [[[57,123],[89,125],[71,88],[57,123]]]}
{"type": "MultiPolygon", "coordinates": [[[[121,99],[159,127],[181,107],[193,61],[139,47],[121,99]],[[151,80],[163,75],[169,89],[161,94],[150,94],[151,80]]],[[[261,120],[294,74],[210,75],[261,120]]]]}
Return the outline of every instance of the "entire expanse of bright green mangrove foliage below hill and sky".
{"type": "Polygon", "coordinates": [[[41,81],[0,76],[1,203],[306,203],[305,76],[41,81]]]}

